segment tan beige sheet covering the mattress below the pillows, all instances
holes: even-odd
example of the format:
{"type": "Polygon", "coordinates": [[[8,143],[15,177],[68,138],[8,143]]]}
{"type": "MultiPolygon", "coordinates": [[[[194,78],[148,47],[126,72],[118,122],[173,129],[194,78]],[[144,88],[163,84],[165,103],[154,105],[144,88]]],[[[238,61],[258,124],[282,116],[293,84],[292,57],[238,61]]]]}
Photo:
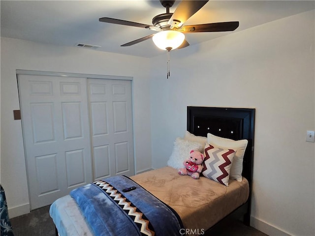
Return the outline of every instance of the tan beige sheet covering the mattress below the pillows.
{"type": "Polygon", "coordinates": [[[172,167],[145,172],[130,177],[159,200],[172,207],[186,229],[211,228],[249,196],[249,184],[229,180],[229,186],[200,177],[181,176],[172,167]]]}

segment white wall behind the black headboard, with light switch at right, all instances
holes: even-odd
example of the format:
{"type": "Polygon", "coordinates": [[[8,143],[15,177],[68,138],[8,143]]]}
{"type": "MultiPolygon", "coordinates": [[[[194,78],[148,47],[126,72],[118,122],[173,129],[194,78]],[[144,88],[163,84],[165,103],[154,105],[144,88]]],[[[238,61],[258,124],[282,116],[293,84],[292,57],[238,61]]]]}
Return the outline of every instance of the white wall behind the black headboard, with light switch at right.
{"type": "Polygon", "coordinates": [[[284,18],[152,59],[153,167],[186,130],[187,106],[254,107],[252,225],[315,235],[315,12],[284,18]],[[153,67],[154,65],[154,67],[153,67]]]}

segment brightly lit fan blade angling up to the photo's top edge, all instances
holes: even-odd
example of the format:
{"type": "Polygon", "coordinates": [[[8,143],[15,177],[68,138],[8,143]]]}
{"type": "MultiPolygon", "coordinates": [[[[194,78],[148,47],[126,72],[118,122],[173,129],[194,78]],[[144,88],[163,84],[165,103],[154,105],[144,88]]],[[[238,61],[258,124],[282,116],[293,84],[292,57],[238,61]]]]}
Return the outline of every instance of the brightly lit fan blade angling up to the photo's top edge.
{"type": "Polygon", "coordinates": [[[193,14],[203,7],[209,0],[183,0],[177,6],[168,24],[171,29],[180,28],[193,14]]]}

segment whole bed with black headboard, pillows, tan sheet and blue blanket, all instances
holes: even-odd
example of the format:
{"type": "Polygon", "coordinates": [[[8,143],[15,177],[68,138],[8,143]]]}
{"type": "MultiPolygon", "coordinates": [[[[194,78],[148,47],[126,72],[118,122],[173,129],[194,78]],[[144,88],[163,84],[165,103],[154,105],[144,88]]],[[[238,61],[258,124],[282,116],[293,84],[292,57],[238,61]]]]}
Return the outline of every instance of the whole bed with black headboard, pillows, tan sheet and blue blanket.
{"type": "Polygon", "coordinates": [[[202,235],[231,214],[249,225],[254,114],[251,108],[187,107],[187,131],[174,142],[168,166],[96,181],[56,200],[50,207],[56,234],[202,235]],[[190,148],[205,154],[199,179],[176,168],[190,148]],[[226,161],[216,166],[214,153],[224,153],[226,161]],[[219,166],[224,178],[216,173],[219,166]],[[130,186],[135,189],[124,192],[130,186]]]}

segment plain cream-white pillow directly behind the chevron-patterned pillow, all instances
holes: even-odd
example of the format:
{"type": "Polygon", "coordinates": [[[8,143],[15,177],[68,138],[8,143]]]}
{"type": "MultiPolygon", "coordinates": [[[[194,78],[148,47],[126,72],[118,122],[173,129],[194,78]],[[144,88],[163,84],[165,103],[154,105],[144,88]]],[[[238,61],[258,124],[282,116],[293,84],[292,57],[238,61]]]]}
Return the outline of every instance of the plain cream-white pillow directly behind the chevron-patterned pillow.
{"type": "Polygon", "coordinates": [[[236,179],[237,181],[242,181],[243,158],[248,140],[243,139],[235,141],[232,139],[221,138],[210,133],[208,133],[207,138],[209,144],[214,145],[218,148],[228,148],[236,150],[232,167],[230,169],[230,178],[236,179]]]}

